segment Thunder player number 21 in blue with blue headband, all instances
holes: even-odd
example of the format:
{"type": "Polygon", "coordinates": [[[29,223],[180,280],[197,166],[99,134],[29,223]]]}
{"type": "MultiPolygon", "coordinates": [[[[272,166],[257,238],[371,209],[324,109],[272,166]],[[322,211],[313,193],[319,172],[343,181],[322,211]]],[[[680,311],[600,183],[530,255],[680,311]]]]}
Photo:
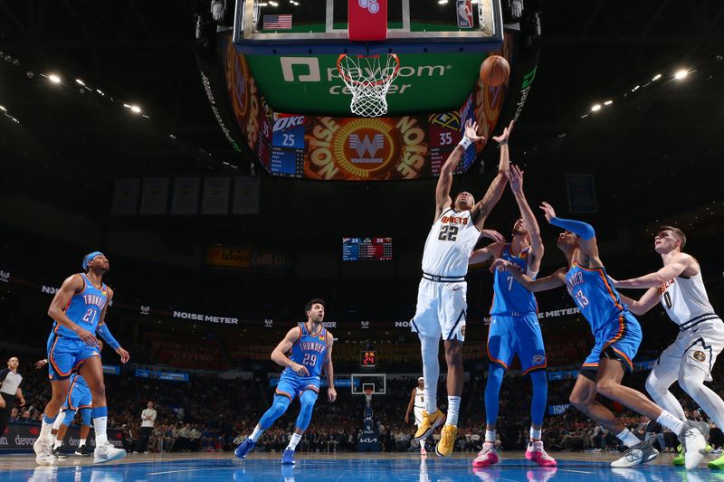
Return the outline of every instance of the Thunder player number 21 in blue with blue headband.
{"type": "Polygon", "coordinates": [[[39,465],[54,463],[52,424],[68,394],[69,378],[73,372],[81,374],[88,383],[93,399],[92,418],[96,436],[93,461],[108,462],[126,456],[126,451],[116,449],[106,434],[108,408],[96,338],[98,333],[120,355],[121,363],[128,362],[129,352],[110,334],[105,323],[113,290],[103,283],[103,275],[110,269],[110,264],[103,253],[94,251],[83,258],[82,265],[85,272],[65,279],[48,309],[48,315],[53,319],[47,345],[52,398],[45,406],[40,436],[33,444],[39,465]]]}

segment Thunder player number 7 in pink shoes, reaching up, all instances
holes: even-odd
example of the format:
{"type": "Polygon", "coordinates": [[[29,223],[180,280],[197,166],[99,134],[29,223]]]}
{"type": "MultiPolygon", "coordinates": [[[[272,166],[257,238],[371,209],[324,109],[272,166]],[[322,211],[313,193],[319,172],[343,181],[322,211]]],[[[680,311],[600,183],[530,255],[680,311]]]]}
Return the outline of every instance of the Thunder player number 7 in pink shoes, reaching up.
{"type": "MultiPolygon", "coordinates": [[[[493,242],[481,250],[473,251],[470,262],[506,260],[520,272],[535,279],[544,251],[540,228],[523,193],[523,172],[517,165],[510,166],[508,180],[521,216],[513,224],[513,239],[510,243],[493,242]]],[[[548,380],[546,349],[538,324],[538,304],[533,293],[521,286],[506,271],[493,272],[493,302],[487,351],[490,364],[488,380],[485,383],[485,441],[478,457],[472,461],[472,466],[490,467],[498,463],[494,442],[500,404],[500,385],[513,356],[518,354],[522,372],[530,375],[530,382],[533,385],[533,397],[530,402],[530,443],[526,449],[526,458],[544,467],[555,467],[556,460],[548,455],[540,440],[548,402],[548,380]]]]}

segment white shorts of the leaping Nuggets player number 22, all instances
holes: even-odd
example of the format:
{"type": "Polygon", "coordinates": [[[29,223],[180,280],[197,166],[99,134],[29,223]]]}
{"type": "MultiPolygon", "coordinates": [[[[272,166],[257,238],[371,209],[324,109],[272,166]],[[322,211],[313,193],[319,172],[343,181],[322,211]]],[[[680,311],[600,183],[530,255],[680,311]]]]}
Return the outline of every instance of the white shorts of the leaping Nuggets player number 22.
{"type": "Polygon", "coordinates": [[[422,336],[465,341],[468,303],[465,281],[446,283],[422,279],[417,291],[417,308],[411,329],[422,336]]]}

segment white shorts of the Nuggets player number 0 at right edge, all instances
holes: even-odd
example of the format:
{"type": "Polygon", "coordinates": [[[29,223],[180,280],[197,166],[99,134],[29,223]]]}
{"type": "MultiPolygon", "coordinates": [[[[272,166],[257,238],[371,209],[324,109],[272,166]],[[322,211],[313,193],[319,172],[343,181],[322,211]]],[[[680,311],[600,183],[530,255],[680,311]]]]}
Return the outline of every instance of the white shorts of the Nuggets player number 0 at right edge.
{"type": "Polygon", "coordinates": [[[653,370],[661,373],[684,373],[689,370],[703,370],[706,381],[711,382],[711,369],[717,355],[724,348],[724,323],[720,319],[701,322],[680,331],[672,345],[669,345],[656,360],[653,370]]]}

